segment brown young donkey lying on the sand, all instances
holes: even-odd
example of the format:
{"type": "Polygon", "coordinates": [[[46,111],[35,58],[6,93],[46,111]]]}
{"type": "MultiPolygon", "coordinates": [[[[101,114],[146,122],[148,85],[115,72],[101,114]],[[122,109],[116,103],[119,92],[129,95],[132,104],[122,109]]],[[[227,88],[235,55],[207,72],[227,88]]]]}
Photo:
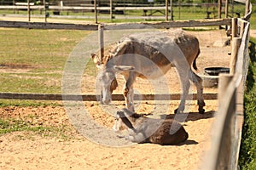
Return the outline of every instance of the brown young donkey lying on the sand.
{"type": "Polygon", "coordinates": [[[180,144],[189,137],[177,121],[148,118],[123,109],[116,114],[113,130],[118,132],[127,127],[130,134],[126,139],[135,143],[180,144]]]}

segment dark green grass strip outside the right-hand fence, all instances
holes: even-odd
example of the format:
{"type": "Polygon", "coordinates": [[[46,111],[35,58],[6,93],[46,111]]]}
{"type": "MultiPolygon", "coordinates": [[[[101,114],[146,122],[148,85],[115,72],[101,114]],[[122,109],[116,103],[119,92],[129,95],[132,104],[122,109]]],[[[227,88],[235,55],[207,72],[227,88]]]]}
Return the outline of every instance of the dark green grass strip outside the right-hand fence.
{"type": "MultiPolygon", "coordinates": [[[[256,38],[251,38],[256,43],[256,38]]],[[[251,46],[247,88],[244,97],[244,125],[242,129],[239,166],[241,170],[256,169],[256,61],[255,46],[251,46]]]]}

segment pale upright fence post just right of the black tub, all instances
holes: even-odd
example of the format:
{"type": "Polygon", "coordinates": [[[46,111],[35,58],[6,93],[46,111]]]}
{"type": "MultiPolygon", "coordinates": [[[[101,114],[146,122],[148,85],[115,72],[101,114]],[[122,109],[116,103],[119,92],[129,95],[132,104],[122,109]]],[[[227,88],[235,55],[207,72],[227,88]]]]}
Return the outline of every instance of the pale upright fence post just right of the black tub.
{"type": "Polygon", "coordinates": [[[232,46],[231,46],[231,59],[230,59],[230,75],[234,75],[236,71],[236,60],[238,50],[241,44],[240,37],[234,37],[232,39],[232,46]]]}

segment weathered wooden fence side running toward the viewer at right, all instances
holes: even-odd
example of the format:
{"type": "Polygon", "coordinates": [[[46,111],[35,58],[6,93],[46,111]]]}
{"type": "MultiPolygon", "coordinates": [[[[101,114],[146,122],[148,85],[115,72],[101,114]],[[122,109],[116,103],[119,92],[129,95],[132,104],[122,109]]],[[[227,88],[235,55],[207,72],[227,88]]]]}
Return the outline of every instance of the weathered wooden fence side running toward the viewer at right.
{"type": "MultiPolygon", "coordinates": [[[[248,3],[249,19],[252,5],[248,3]]],[[[248,67],[250,23],[232,20],[232,59],[230,75],[220,75],[218,85],[218,112],[212,127],[212,147],[207,152],[201,169],[222,170],[238,168],[241,128],[243,123],[243,96],[248,67]]]]}

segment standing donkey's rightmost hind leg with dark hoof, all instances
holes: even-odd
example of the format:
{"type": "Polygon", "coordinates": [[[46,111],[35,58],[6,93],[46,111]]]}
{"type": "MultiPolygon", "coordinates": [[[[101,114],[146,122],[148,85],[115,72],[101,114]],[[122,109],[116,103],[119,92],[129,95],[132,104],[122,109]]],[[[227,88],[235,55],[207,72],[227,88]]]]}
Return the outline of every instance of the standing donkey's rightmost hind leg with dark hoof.
{"type": "Polygon", "coordinates": [[[204,106],[205,101],[203,99],[203,86],[202,86],[202,79],[198,75],[195,74],[195,72],[192,71],[191,77],[189,77],[190,80],[195,84],[196,90],[197,90],[197,105],[199,106],[198,111],[199,113],[203,114],[205,112],[204,106]]]}

